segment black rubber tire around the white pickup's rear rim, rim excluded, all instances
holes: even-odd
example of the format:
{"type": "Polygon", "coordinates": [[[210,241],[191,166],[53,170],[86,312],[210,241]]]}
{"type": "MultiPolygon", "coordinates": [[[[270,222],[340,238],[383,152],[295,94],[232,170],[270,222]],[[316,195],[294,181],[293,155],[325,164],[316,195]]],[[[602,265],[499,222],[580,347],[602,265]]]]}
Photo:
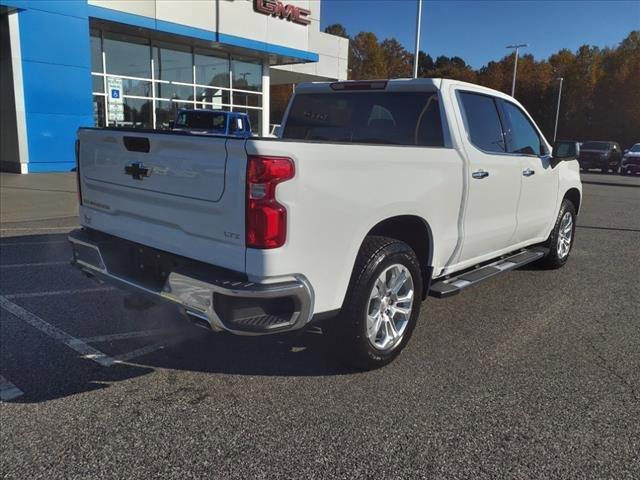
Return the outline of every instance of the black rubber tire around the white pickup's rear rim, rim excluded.
{"type": "Polygon", "coordinates": [[[396,358],[416,326],[422,301],[422,285],[420,262],[411,247],[393,238],[365,238],[356,258],[340,314],[324,327],[331,347],[338,348],[342,362],[357,370],[371,370],[396,358]],[[366,334],[369,297],[378,276],[394,264],[403,265],[411,274],[413,304],[402,338],[389,349],[380,350],[372,345],[366,334]]]}

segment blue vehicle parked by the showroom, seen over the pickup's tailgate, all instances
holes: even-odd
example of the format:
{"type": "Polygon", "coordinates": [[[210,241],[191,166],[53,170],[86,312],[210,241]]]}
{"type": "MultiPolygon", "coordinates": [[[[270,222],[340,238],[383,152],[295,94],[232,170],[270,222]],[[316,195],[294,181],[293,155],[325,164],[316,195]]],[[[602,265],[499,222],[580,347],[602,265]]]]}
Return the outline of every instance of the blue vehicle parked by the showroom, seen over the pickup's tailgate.
{"type": "Polygon", "coordinates": [[[210,109],[178,110],[175,122],[169,124],[173,131],[208,135],[229,135],[249,138],[251,122],[246,113],[225,112],[210,109]]]}

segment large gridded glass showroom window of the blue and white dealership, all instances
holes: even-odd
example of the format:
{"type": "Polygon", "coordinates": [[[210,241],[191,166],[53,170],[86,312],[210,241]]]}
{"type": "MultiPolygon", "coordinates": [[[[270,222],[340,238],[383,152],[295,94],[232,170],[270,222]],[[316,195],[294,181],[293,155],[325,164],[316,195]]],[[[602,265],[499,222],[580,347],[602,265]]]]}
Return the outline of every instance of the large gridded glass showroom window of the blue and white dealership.
{"type": "Polygon", "coordinates": [[[92,29],[91,70],[96,126],[166,129],[181,108],[211,108],[247,113],[260,132],[261,61],[92,29]],[[122,107],[109,120],[106,91],[114,81],[122,107]]]}

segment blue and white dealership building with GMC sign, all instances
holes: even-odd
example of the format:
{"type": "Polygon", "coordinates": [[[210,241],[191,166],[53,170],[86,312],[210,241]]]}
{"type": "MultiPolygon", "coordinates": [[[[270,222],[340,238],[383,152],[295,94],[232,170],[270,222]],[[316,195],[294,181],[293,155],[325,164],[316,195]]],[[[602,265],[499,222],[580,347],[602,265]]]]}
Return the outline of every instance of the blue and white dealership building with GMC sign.
{"type": "Polygon", "coordinates": [[[320,0],[0,0],[0,167],[63,172],[76,130],[169,127],[181,108],[247,113],[270,89],[343,80],[320,0]]]}

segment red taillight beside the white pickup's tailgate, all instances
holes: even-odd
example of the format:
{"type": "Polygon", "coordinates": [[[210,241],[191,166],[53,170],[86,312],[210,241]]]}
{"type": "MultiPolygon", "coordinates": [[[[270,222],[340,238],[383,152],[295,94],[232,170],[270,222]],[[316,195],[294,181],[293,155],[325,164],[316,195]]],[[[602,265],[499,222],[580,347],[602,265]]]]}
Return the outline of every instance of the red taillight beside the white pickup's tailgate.
{"type": "Polygon", "coordinates": [[[287,209],[276,201],[276,185],[294,175],[286,157],[249,155],[247,163],[246,244],[249,248],[278,248],[287,239],[287,209]]]}

